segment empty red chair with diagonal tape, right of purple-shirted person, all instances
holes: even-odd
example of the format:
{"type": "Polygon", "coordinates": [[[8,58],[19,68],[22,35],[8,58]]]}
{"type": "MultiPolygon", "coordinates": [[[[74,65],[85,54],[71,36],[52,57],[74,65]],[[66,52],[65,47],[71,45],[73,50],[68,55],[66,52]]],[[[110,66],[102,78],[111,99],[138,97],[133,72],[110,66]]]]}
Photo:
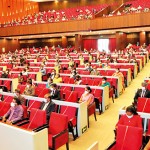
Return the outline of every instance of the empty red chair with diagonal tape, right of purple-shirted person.
{"type": "Polygon", "coordinates": [[[20,124],[17,125],[25,129],[36,131],[38,128],[44,126],[45,124],[46,124],[46,111],[32,108],[30,111],[29,120],[25,120],[24,122],[21,122],[20,124]]]}

